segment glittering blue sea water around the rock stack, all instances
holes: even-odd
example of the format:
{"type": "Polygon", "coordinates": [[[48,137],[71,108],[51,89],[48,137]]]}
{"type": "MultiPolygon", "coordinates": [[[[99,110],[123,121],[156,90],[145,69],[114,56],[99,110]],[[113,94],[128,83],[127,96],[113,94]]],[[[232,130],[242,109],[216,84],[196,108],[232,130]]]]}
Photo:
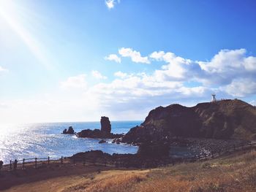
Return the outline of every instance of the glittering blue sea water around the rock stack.
{"type": "MultiPolygon", "coordinates": [[[[129,128],[140,125],[141,121],[113,121],[112,132],[127,133],[129,128]]],[[[61,134],[64,128],[72,126],[75,132],[83,129],[100,128],[99,122],[80,123],[31,123],[20,125],[0,125],[0,160],[4,164],[10,159],[61,158],[88,150],[102,150],[105,153],[136,153],[138,147],[127,144],[99,144],[100,139],[78,138],[61,134]]]]}

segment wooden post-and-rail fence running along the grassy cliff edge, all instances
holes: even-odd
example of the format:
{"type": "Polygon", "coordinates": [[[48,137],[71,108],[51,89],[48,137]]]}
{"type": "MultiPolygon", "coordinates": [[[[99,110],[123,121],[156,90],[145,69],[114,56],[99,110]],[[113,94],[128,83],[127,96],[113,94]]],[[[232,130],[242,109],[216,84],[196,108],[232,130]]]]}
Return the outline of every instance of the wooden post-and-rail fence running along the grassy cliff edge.
{"type": "MultiPolygon", "coordinates": [[[[232,152],[236,152],[239,150],[248,150],[256,148],[256,141],[250,141],[246,144],[241,145],[233,145],[232,147],[225,148],[225,150],[219,149],[218,151],[211,152],[211,153],[203,153],[199,155],[195,155],[193,157],[188,158],[178,158],[178,161],[173,161],[173,158],[170,158],[170,164],[175,164],[177,162],[194,162],[194,161],[205,161],[211,158],[217,158],[222,155],[226,155],[232,152]]],[[[112,164],[108,164],[108,162],[102,159],[102,162],[95,161],[92,158],[70,158],[61,156],[61,158],[50,158],[50,156],[46,158],[23,158],[21,160],[10,160],[10,164],[5,164],[1,170],[16,170],[16,169],[27,169],[27,168],[35,168],[39,169],[42,166],[48,166],[50,164],[55,165],[66,165],[66,164],[83,164],[86,165],[97,165],[97,166],[112,166],[117,167],[118,162],[112,164]]]]}

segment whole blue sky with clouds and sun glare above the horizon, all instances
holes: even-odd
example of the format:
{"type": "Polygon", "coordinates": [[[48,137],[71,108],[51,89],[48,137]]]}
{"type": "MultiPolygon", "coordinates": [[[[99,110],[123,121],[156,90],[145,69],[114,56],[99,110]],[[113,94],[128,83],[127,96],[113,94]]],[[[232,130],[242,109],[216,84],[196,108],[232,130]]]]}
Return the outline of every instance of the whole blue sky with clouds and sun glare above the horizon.
{"type": "Polygon", "coordinates": [[[0,0],[0,122],[256,105],[256,1],[0,0]]]}

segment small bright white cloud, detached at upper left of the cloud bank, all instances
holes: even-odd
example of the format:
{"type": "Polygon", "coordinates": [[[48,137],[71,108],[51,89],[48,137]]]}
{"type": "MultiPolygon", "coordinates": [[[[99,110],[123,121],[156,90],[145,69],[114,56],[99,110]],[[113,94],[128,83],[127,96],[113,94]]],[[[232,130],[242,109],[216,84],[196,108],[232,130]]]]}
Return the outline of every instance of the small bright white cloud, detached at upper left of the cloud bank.
{"type": "Polygon", "coordinates": [[[150,64],[148,57],[142,57],[140,55],[140,52],[136,50],[132,50],[131,48],[122,47],[121,49],[118,50],[118,53],[122,57],[130,57],[132,61],[135,63],[150,64]]]}

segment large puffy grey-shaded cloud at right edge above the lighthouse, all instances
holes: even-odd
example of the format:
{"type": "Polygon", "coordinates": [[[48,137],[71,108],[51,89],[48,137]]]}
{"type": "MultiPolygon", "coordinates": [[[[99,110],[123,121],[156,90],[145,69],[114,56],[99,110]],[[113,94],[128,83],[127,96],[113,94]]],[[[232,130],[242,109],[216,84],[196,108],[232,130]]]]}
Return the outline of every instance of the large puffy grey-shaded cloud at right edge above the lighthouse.
{"type": "Polygon", "coordinates": [[[234,80],[256,80],[256,58],[246,56],[246,50],[220,50],[211,61],[197,61],[201,72],[197,79],[207,85],[229,85],[234,80]],[[199,77],[200,76],[200,77],[199,77]]]}

